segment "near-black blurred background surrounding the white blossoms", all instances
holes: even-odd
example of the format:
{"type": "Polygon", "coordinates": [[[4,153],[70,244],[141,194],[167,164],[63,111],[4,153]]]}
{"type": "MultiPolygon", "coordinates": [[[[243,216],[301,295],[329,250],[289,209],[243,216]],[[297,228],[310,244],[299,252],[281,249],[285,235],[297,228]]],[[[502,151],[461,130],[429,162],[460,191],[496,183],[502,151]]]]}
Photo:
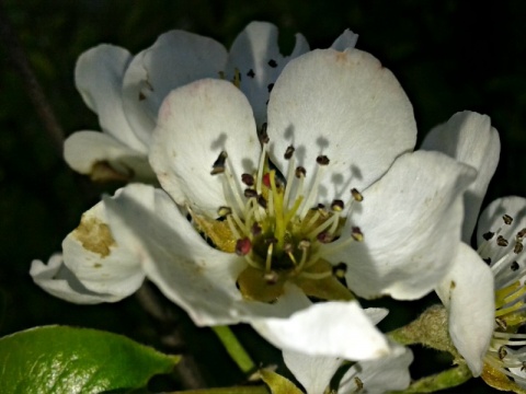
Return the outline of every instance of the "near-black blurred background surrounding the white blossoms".
{"type": "MultiPolygon", "coordinates": [[[[279,27],[286,53],[297,32],[316,48],[329,46],[348,27],[359,34],[357,47],[374,54],[400,80],[414,106],[420,140],[458,111],[491,116],[502,153],[485,204],[499,196],[526,195],[526,2],[489,8],[453,0],[3,0],[3,8],[67,135],[100,129],[72,77],[77,57],[100,43],[137,53],[161,33],[183,28],[228,47],[250,21],[262,20],[279,27]]],[[[93,185],[67,167],[4,46],[0,70],[0,336],[44,324],[95,327],[164,351],[192,354],[210,385],[242,381],[214,335],[193,327],[173,305],[161,301],[163,317],[156,318],[137,298],[77,306],[33,285],[31,260],[47,260],[80,215],[118,185],[93,185]]],[[[157,297],[155,289],[148,290],[157,297]]],[[[434,301],[389,303],[391,314],[400,317],[388,325],[411,318],[434,301]]],[[[275,350],[262,350],[264,344],[247,327],[236,331],[258,362],[278,357],[275,350]]],[[[441,368],[447,367],[439,355],[415,350],[428,364],[441,361],[441,368]]],[[[430,373],[431,368],[419,362],[413,372],[430,373]]],[[[449,392],[494,391],[472,380],[449,392]]]]}

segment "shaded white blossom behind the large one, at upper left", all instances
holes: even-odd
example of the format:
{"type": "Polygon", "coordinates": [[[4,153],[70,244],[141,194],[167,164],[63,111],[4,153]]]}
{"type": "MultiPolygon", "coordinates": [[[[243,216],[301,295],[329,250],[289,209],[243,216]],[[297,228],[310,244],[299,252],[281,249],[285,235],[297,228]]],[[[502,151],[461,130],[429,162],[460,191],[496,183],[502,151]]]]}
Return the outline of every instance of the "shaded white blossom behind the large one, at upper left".
{"type": "MultiPolygon", "coordinates": [[[[356,39],[357,35],[345,31],[333,47],[343,50],[356,39]]],[[[202,78],[235,81],[261,125],[277,76],[290,59],[308,50],[308,43],[297,34],[290,56],[282,56],[276,26],[263,22],[250,23],[229,53],[211,38],[184,31],[161,35],[136,56],[117,46],[94,47],[79,57],[75,78],[85,104],[99,115],[103,132],[71,135],[65,143],[65,159],[94,179],[153,182],[148,149],[157,113],[171,90],[202,78]]]]}

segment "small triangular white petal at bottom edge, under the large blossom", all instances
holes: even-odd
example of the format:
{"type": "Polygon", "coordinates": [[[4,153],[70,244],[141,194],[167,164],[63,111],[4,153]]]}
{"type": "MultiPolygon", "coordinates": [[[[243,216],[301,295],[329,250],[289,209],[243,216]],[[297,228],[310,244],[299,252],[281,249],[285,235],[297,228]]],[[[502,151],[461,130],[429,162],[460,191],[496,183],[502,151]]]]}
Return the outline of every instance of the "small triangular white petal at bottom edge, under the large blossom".
{"type": "Polygon", "coordinates": [[[283,360],[307,394],[323,393],[342,364],[340,358],[307,356],[296,351],[283,351],[283,360]]]}

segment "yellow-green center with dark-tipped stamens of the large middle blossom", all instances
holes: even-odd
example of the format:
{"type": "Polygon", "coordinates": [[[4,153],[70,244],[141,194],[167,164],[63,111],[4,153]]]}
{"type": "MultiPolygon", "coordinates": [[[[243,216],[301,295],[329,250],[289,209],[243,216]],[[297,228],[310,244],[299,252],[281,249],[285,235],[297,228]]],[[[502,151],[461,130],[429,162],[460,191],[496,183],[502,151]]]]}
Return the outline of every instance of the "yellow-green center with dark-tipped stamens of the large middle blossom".
{"type": "Polygon", "coordinates": [[[333,268],[324,257],[350,242],[362,241],[361,230],[353,228],[343,242],[323,250],[323,254],[320,245],[344,236],[346,213],[363,196],[353,189],[346,204],[339,199],[330,207],[317,204],[329,158],[317,158],[313,182],[306,190],[307,172],[296,165],[295,148],[289,146],[284,153],[288,169],[283,176],[268,160],[265,129],[264,125],[255,173],[242,174],[239,183],[226,151],[219,154],[210,173],[222,177],[227,206],[218,208],[218,216],[227,223],[233,252],[248,265],[238,278],[238,287],[245,298],[265,302],[276,300],[286,281],[300,286],[308,296],[350,299],[348,289],[336,279],[342,277],[342,266],[333,268]]]}

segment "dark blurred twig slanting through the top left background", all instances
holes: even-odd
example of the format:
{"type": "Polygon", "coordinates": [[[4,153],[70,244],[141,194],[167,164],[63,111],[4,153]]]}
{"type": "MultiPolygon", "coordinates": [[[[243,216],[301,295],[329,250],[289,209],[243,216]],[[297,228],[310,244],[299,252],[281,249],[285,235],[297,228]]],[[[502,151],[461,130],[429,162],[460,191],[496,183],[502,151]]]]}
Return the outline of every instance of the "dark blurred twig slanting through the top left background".
{"type": "Polygon", "coordinates": [[[0,39],[5,47],[14,69],[22,77],[25,92],[36,108],[55,150],[62,155],[64,131],[49,105],[44,91],[36,80],[24,49],[14,32],[0,0],[0,39]]]}

